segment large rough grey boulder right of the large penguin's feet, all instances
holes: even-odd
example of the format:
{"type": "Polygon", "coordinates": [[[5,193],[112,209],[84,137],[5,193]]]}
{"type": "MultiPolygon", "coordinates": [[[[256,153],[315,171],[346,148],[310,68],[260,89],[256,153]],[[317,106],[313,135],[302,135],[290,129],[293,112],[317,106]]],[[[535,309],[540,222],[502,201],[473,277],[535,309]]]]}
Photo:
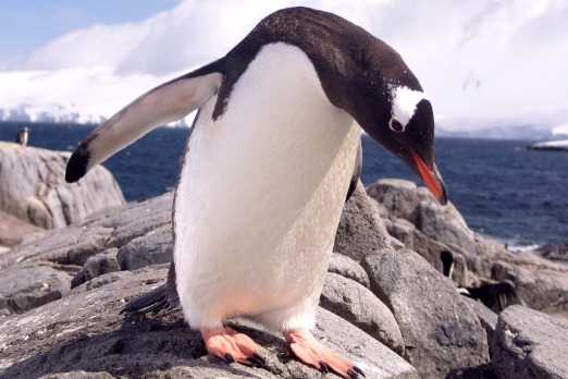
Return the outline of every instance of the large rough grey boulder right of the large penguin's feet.
{"type": "Polygon", "coordinates": [[[487,363],[485,331],[455,285],[411,250],[383,249],[363,261],[371,290],[393,311],[405,357],[424,378],[487,363]]]}

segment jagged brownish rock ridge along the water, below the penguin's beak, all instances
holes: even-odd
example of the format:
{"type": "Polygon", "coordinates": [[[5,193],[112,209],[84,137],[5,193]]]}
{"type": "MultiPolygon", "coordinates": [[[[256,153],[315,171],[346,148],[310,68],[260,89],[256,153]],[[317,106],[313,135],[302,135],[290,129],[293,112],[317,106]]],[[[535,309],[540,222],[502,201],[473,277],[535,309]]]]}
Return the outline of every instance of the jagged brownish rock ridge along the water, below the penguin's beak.
{"type": "Polygon", "coordinates": [[[545,311],[568,310],[568,266],[530,253],[511,253],[504,245],[472,232],[449,203],[442,207],[424,187],[395,179],[379,180],[368,193],[386,208],[388,232],[459,286],[509,281],[518,303],[545,311]]]}

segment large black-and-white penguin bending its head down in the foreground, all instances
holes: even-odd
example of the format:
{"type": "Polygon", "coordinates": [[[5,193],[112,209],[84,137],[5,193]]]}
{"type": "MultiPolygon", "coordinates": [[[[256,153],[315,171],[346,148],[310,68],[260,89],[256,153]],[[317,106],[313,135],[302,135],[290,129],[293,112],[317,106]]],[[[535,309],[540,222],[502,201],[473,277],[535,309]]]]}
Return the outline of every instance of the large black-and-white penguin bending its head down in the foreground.
{"type": "Polygon", "coordinates": [[[360,174],[361,130],[447,201],[420,83],[363,28],[319,10],[283,9],[225,57],[98,126],[72,154],[66,181],[195,110],[175,188],[169,279],[124,310],[180,304],[209,354],[261,365],[259,346],[225,323],[249,317],[283,333],[305,364],[362,375],[310,330],[339,216],[360,174]]]}

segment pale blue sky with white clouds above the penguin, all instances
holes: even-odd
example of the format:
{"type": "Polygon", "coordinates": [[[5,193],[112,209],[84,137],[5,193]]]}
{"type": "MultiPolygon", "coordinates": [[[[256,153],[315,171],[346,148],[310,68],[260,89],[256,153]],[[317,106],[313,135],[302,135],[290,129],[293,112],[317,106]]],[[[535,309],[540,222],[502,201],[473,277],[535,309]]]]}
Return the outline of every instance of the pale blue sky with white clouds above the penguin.
{"type": "Polygon", "coordinates": [[[336,13],[394,47],[444,129],[568,131],[565,0],[0,0],[0,109],[109,118],[292,5],[336,13]]]}

